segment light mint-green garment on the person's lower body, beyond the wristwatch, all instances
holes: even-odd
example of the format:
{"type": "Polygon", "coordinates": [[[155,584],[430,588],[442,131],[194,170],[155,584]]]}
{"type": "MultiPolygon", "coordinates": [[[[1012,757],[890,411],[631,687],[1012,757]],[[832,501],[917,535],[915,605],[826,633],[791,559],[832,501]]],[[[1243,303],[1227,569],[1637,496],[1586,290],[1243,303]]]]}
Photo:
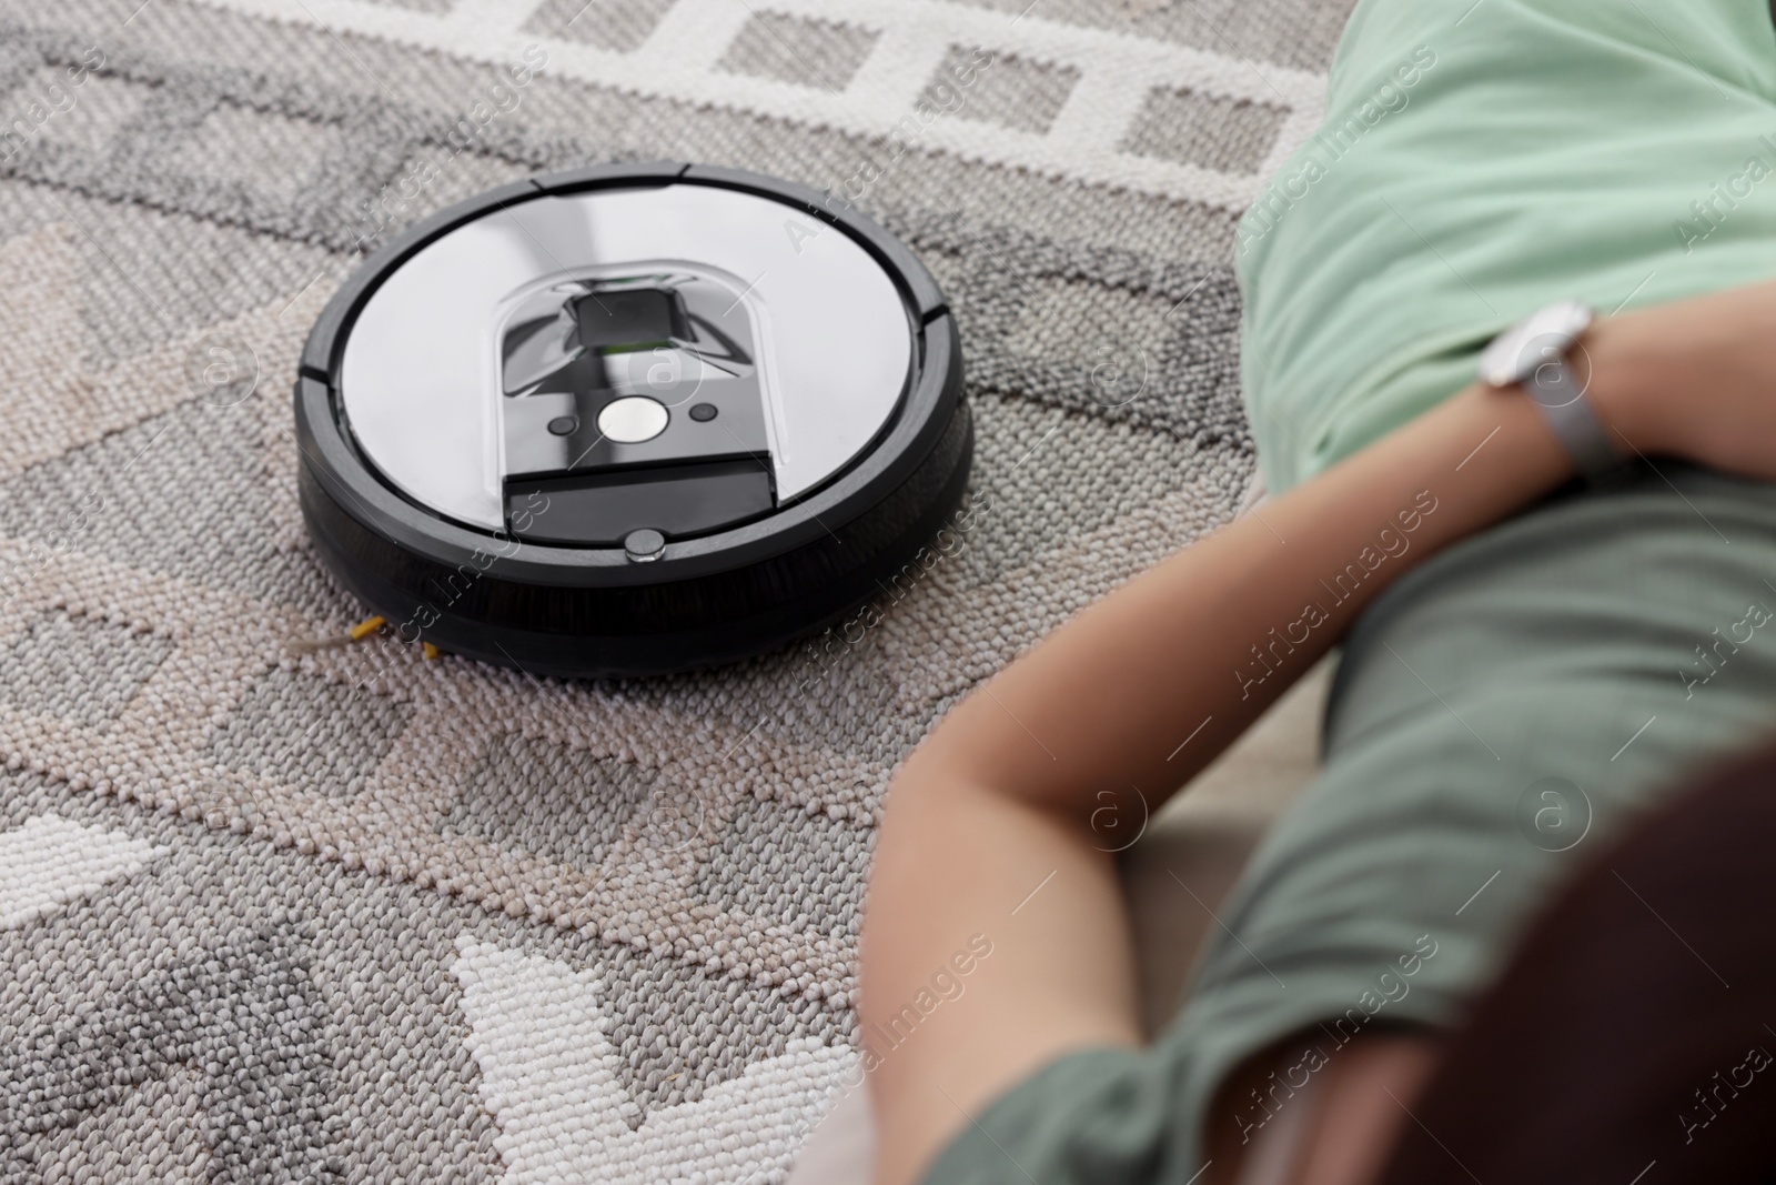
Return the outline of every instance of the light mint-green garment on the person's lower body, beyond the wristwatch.
{"type": "Polygon", "coordinates": [[[1469,4],[1360,0],[1325,126],[1240,222],[1241,382],[1272,490],[1460,391],[1545,304],[1776,277],[1762,0],[1469,4]]]}

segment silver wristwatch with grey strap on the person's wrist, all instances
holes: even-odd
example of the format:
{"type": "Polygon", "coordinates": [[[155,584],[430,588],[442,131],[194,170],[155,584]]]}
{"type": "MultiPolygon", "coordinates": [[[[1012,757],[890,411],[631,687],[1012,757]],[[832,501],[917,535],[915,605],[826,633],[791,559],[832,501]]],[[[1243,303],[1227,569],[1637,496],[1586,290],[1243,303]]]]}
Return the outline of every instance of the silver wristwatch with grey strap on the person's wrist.
{"type": "Polygon", "coordinates": [[[1593,480],[1614,473],[1627,460],[1566,359],[1595,318],[1597,313],[1577,300],[1550,304],[1494,338],[1479,355],[1481,382],[1499,389],[1522,386],[1579,473],[1593,480]]]}

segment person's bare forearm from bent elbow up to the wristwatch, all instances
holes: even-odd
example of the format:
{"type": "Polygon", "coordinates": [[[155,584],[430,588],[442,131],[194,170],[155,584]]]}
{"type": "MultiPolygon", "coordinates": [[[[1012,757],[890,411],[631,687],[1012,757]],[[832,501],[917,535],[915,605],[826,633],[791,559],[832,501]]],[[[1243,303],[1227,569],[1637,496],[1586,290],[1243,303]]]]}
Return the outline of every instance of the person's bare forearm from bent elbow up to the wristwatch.
{"type": "Polygon", "coordinates": [[[1066,622],[918,757],[1057,810],[1096,783],[1158,805],[1387,585],[1572,474],[1526,396],[1471,387],[1066,622]]]}

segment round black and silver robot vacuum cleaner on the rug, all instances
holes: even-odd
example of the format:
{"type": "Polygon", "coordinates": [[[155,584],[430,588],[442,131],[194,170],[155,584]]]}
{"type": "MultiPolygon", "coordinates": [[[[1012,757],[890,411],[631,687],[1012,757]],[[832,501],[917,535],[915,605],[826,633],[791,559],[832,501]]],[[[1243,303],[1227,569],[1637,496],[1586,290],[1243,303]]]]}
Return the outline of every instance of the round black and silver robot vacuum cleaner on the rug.
{"type": "Polygon", "coordinates": [[[469,199],[371,256],[297,378],[300,499],[403,641],[662,675],[817,632],[955,510],[955,320],[815,190],[611,165],[469,199]]]}

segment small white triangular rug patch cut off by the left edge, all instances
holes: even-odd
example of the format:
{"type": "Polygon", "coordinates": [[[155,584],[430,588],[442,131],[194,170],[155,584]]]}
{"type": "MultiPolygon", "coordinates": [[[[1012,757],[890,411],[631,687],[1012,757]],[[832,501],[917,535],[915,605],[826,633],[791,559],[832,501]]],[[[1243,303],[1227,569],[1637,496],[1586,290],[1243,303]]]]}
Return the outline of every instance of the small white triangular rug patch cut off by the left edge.
{"type": "Polygon", "coordinates": [[[36,815],[0,831],[0,929],[18,929],[165,853],[123,831],[36,815]]]}

